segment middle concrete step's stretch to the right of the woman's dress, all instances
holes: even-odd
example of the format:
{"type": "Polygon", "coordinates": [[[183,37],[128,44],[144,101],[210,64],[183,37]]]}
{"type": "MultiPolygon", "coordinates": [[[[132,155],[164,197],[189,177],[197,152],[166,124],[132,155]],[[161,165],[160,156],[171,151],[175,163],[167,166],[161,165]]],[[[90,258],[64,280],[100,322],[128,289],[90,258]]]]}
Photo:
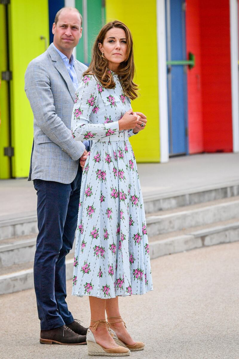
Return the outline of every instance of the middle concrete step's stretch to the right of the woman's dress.
{"type": "Polygon", "coordinates": [[[174,232],[185,228],[239,220],[239,197],[226,198],[146,216],[148,236],[174,232]]]}

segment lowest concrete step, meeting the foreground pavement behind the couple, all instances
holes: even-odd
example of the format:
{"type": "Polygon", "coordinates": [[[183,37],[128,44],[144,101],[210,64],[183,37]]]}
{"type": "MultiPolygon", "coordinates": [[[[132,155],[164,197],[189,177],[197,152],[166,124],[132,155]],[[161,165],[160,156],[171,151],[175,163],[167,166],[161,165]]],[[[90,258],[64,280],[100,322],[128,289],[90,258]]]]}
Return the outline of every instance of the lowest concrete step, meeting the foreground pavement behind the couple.
{"type": "MultiPolygon", "coordinates": [[[[204,246],[239,241],[239,221],[229,224],[211,224],[206,228],[191,228],[188,232],[178,232],[177,236],[162,239],[153,237],[149,252],[151,259],[172,253],[192,250],[204,246]]],[[[66,257],[66,279],[72,278],[73,253],[66,257]]],[[[33,262],[15,264],[1,269],[0,294],[18,292],[33,288],[33,262]]]]}

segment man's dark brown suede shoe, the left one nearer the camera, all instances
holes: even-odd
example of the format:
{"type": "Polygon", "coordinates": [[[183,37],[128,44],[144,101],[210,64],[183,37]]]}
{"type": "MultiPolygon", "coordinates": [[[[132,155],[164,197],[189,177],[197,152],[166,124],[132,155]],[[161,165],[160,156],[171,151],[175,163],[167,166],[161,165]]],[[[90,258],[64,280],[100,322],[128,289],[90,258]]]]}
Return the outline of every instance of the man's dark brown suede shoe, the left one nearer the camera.
{"type": "Polygon", "coordinates": [[[86,344],[86,335],[78,335],[66,325],[40,331],[41,344],[81,345],[86,344]]]}

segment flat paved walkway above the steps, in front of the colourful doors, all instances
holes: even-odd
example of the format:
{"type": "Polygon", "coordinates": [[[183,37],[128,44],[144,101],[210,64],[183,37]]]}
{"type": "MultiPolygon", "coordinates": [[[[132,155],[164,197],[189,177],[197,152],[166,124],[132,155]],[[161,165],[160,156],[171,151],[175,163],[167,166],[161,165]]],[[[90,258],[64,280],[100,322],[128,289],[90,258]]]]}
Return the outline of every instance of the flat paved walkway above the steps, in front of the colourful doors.
{"type": "MultiPolygon", "coordinates": [[[[201,189],[239,181],[239,154],[214,153],[171,158],[168,163],[138,164],[143,196],[201,189]]],[[[0,180],[0,216],[6,218],[36,212],[32,182],[0,180]]]]}

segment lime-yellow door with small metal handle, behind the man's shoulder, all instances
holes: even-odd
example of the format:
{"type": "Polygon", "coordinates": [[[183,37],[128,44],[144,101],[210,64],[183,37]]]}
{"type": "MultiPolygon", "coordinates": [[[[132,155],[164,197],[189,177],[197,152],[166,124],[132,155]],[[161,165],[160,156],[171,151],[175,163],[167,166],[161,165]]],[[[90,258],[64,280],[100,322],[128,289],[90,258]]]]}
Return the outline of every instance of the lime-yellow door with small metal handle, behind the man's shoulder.
{"type": "Polygon", "coordinates": [[[28,63],[49,45],[48,0],[11,0],[11,129],[14,147],[13,177],[27,177],[33,141],[33,113],[24,92],[28,63]],[[41,40],[40,36],[47,39],[41,40]]]}

